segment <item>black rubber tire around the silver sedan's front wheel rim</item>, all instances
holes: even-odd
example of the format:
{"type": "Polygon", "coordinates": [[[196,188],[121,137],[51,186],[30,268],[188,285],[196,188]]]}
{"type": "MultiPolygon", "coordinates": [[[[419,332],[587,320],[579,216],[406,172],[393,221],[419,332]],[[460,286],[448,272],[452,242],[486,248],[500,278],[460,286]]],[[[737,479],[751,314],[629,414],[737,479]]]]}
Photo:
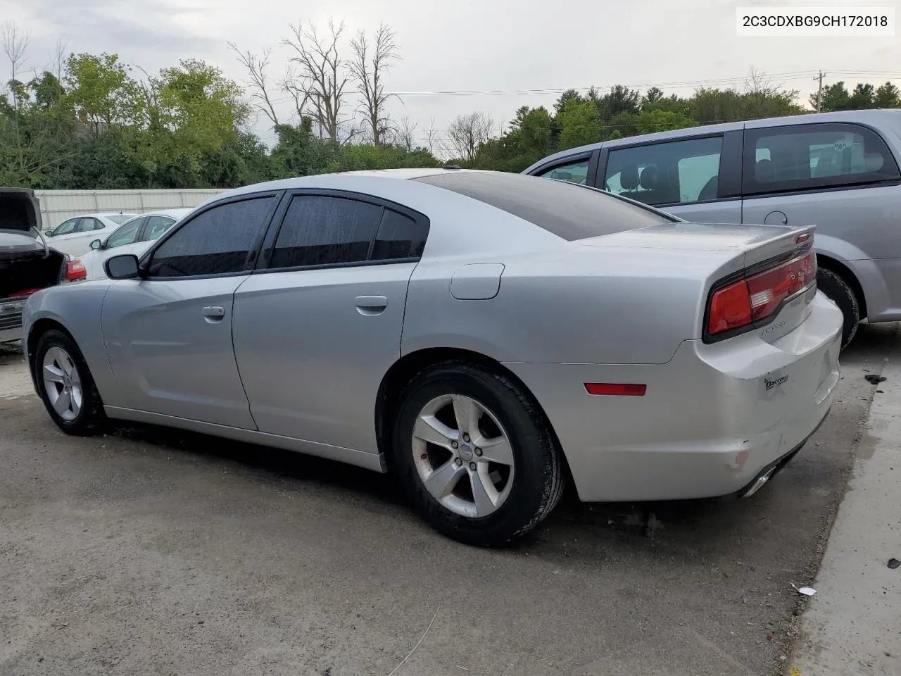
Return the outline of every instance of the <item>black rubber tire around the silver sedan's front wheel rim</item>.
{"type": "Polygon", "coordinates": [[[75,436],[91,436],[102,431],[106,422],[103,401],[97,392],[91,371],[87,368],[84,355],[78,349],[75,341],[68,336],[68,333],[53,329],[41,335],[37,349],[34,351],[34,374],[38,386],[38,394],[41,395],[47,413],[59,429],[66,434],[75,436]],[[60,415],[59,411],[53,406],[50,393],[48,393],[47,386],[44,383],[44,358],[50,350],[55,348],[62,350],[68,355],[68,358],[75,366],[77,377],[81,384],[81,406],[78,407],[77,414],[70,419],[60,415]]]}

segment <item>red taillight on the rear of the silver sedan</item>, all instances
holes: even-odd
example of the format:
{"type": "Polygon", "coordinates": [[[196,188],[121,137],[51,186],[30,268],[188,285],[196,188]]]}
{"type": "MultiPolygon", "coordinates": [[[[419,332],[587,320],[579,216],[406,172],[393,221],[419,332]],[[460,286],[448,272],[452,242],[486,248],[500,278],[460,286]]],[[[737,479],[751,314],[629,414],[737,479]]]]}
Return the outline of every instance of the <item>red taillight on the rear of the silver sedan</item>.
{"type": "Polygon", "coordinates": [[[707,333],[724,333],[765,319],[778,310],[782,301],[809,287],[815,279],[816,254],[807,251],[720,288],[710,299],[707,333]]]}

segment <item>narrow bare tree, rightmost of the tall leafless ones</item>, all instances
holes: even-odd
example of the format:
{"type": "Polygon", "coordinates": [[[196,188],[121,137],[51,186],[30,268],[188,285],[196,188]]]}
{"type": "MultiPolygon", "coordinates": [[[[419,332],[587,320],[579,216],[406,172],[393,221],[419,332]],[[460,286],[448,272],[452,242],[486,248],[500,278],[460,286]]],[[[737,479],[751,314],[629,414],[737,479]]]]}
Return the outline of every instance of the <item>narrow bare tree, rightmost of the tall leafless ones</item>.
{"type": "Polygon", "coordinates": [[[363,97],[362,114],[366,119],[367,135],[378,145],[384,142],[384,136],[391,129],[391,123],[385,110],[391,94],[385,93],[385,74],[396,60],[395,32],[384,23],[378,26],[372,49],[365,32],[358,32],[350,41],[353,57],[350,59],[350,72],[357,79],[357,91],[363,97]]]}

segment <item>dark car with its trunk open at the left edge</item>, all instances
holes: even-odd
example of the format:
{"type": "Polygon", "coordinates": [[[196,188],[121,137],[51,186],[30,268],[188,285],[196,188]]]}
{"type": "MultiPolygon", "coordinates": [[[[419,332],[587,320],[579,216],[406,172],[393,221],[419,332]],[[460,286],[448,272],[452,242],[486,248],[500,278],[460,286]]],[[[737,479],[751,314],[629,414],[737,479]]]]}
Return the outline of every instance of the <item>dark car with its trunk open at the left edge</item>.
{"type": "Polygon", "coordinates": [[[0,343],[22,338],[25,300],[66,279],[68,256],[50,249],[41,235],[41,208],[34,192],[0,187],[0,343]]]}

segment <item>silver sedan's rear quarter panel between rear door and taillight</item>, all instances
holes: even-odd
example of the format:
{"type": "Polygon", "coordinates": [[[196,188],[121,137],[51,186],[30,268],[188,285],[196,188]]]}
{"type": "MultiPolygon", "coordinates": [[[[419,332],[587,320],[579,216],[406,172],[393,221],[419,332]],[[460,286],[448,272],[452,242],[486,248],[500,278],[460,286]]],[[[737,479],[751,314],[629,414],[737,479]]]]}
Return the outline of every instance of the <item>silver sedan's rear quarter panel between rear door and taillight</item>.
{"type": "MultiPolygon", "coordinates": [[[[504,265],[490,300],[457,300],[449,280],[470,260],[423,262],[407,296],[402,352],[453,347],[497,361],[660,364],[698,338],[723,253],[572,245],[479,260],[504,265]]],[[[740,263],[738,263],[740,267],[740,263]]]]}

